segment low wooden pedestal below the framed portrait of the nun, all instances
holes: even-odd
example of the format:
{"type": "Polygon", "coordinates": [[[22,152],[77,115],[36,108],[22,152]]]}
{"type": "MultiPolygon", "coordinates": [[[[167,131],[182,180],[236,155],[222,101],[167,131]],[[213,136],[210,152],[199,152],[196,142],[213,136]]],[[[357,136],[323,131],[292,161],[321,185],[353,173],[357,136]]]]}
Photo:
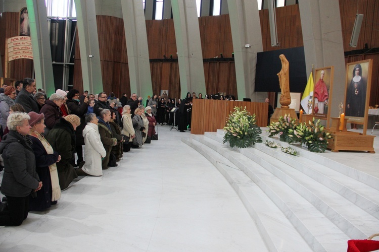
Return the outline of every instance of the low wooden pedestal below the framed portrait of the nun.
{"type": "Polygon", "coordinates": [[[327,132],[330,133],[332,138],[328,140],[329,144],[327,148],[332,152],[367,151],[368,153],[375,153],[373,148],[375,136],[347,131],[347,120],[348,119],[345,118],[343,130],[340,131],[340,118],[331,117],[331,127],[327,132]]]}

